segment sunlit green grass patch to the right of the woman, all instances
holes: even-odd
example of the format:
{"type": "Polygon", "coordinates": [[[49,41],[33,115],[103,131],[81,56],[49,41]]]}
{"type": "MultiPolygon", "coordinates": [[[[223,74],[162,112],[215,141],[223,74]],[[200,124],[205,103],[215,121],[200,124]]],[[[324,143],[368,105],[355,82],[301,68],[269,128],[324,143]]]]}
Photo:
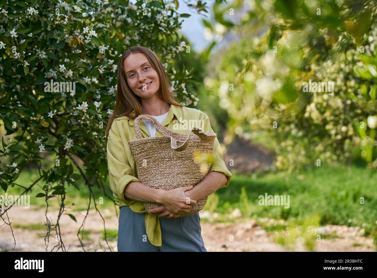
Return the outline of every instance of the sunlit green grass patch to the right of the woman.
{"type": "Polygon", "coordinates": [[[377,173],[356,165],[321,167],[293,172],[270,172],[253,179],[234,175],[227,188],[216,193],[216,211],[231,213],[239,208],[243,217],[284,219],[300,222],[318,214],[320,224],[359,225],[366,235],[376,230],[377,173]],[[302,179],[299,179],[302,176],[302,179]],[[259,205],[259,195],[290,195],[290,207],[259,205]],[[360,204],[360,198],[364,204],[360,204]]]}

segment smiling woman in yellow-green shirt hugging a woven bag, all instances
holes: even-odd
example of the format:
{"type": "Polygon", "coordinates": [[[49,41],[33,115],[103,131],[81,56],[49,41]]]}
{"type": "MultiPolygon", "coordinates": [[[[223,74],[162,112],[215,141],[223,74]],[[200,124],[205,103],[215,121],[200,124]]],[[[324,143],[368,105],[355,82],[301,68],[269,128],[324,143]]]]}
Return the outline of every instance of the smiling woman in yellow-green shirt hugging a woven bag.
{"type": "MultiPolygon", "coordinates": [[[[183,107],[173,97],[161,61],[152,50],[134,46],[121,57],[116,103],[107,127],[107,162],[113,196],[119,199],[118,251],[207,251],[201,236],[199,213],[189,212],[197,200],[227,187],[231,173],[225,166],[219,141],[215,139],[214,162],[210,172],[195,187],[159,190],[142,184],[128,141],[135,140],[134,119],[140,114],[154,116],[169,130],[187,120],[202,122],[202,130],[214,133],[208,116],[200,110],[183,107]],[[186,197],[190,204],[186,204],[186,197]],[[151,212],[143,202],[162,204],[151,212]]],[[[182,127],[182,125],[180,125],[182,127]]],[[[148,120],[139,122],[143,137],[162,136],[148,120]]]]}

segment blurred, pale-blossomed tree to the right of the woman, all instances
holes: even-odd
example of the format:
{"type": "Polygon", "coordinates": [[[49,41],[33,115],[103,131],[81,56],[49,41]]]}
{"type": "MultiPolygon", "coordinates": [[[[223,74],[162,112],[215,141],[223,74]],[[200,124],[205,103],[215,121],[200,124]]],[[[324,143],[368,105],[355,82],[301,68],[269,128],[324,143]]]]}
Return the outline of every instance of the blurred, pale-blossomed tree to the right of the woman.
{"type": "Polygon", "coordinates": [[[354,156],[377,167],[376,7],[374,0],[217,5],[234,24],[228,31],[255,35],[223,50],[218,77],[205,79],[230,116],[225,141],[267,131],[278,168],[354,156]]]}

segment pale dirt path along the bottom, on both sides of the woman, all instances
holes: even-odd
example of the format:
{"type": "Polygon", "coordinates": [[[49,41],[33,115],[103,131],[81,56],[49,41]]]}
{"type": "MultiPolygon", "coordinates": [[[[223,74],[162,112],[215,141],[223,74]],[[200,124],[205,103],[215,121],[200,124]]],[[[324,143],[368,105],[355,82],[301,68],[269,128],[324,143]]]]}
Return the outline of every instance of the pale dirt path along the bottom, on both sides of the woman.
{"type": "MultiPolygon", "coordinates": [[[[25,209],[23,207],[12,207],[8,211],[9,218],[12,221],[13,232],[16,239],[15,251],[45,251],[44,233],[46,227],[43,223],[46,221],[44,210],[25,209]]],[[[63,215],[60,219],[60,229],[62,239],[66,249],[69,251],[83,251],[80,241],[77,238],[77,231],[84,219],[84,212],[72,213],[77,223],[68,215],[63,215]]],[[[105,222],[108,235],[115,233],[115,238],[109,240],[109,245],[113,251],[116,251],[116,232],[118,230],[118,219],[113,210],[104,210],[101,212],[105,222]]],[[[199,215],[204,215],[200,212],[199,215]]],[[[55,223],[57,211],[49,212],[50,221],[55,223]]],[[[262,226],[257,225],[254,220],[239,219],[239,223],[201,223],[202,237],[208,252],[248,252],[248,251],[285,251],[279,244],[273,240],[273,234],[268,234],[262,226]],[[233,238],[233,241],[231,241],[233,238]]],[[[271,219],[261,219],[263,221],[272,221],[271,219]]],[[[95,211],[90,211],[86,219],[85,230],[90,230],[87,234],[84,244],[87,251],[109,251],[106,241],[101,239],[103,231],[103,220],[95,211]],[[102,246],[102,247],[101,247],[102,246]]],[[[320,227],[317,231],[321,234],[331,234],[333,239],[326,238],[316,242],[315,251],[374,251],[373,239],[362,236],[362,229],[359,227],[347,227],[338,225],[326,225],[320,227]],[[337,238],[340,237],[340,238],[337,238]]],[[[0,226],[0,251],[9,251],[12,249],[14,239],[12,237],[9,225],[0,226]]],[[[48,250],[57,244],[55,237],[50,237],[48,250]]],[[[302,244],[297,244],[296,251],[305,251],[302,244]]],[[[56,247],[55,249],[56,250],[56,247]]]]}

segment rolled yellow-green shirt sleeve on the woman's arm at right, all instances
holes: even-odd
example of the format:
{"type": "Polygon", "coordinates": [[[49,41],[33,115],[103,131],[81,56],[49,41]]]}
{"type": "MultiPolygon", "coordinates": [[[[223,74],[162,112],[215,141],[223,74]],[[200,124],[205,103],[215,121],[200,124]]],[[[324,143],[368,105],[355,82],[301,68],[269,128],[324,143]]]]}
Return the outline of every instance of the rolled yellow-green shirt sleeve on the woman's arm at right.
{"type": "MultiPolygon", "coordinates": [[[[205,133],[216,133],[211,128],[210,120],[209,120],[207,115],[205,115],[205,120],[204,120],[204,132],[205,133]]],[[[229,185],[231,178],[232,178],[232,174],[230,173],[227,166],[225,165],[224,155],[222,154],[219,139],[217,137],[215,138],[215,143],[213,145],[213,158],[214,158],[214,160],[213,160],[213,164],[211,166],[210,171],[221,172],[225,176],[227,176],[227,182],[225,184],[223,184],[220,188],[227,187],[229,185]]]]}

